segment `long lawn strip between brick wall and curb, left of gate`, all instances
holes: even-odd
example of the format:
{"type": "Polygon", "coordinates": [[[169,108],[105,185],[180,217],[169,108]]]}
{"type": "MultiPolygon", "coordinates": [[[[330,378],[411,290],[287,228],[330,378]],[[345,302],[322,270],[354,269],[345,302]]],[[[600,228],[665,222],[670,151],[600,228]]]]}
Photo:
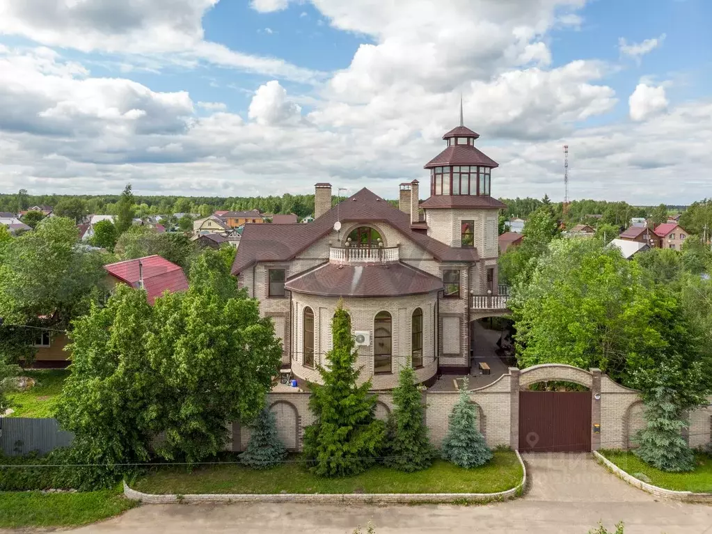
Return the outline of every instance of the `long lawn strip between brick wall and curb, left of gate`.
{"type": "Polygon", "coordinates": [[[349,478],[320,478],[297,461],[267,471],[235,464],[157,468],[134,484],[145,493],[496,493],[518,485],[522,468],[511,451],[496,451],[486,466],[464,469],[438,460],[431,468],[403,473],[374,467],[349,478]]]}

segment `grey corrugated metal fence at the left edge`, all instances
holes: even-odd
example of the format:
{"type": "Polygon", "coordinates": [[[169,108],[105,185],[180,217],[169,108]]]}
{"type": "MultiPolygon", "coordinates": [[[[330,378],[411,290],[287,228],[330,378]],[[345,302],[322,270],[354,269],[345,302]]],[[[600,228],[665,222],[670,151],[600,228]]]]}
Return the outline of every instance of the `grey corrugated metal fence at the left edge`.
{"type": "Polygon", "coordinates": [[[74,434],[59,428],[57,419],[0,417],[0,450],[7,456],[47,454],[72,443],[74,434]]]}

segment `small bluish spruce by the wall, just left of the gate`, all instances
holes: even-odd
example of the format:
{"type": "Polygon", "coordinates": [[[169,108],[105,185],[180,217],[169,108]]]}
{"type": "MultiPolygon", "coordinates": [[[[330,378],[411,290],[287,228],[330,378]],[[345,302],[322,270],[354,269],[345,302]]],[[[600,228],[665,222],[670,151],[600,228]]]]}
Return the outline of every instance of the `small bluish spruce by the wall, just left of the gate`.
{"type": "Polygon", "coordinates": [[[467,379],[464,379],[460,398],[450,414],[441,454],[444,459],[464,468],[483,466],[492,459],[492,451],[477,426],[477,407],[470,402],[467,379]]]}

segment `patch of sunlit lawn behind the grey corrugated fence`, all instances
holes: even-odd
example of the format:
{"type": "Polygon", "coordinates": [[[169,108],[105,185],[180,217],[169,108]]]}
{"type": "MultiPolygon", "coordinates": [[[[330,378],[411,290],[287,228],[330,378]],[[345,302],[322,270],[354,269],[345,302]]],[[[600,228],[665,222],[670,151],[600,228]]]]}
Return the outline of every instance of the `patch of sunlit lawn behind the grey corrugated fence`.
{"type": "Polygon", "coordinates": [[[37,383],[26,392],[8,394],[10,407],[14,409],[10,417],[54,417],[53,410],[69,371],[66,369],[24,371],[22,376],[36,379],[37,383]]]}

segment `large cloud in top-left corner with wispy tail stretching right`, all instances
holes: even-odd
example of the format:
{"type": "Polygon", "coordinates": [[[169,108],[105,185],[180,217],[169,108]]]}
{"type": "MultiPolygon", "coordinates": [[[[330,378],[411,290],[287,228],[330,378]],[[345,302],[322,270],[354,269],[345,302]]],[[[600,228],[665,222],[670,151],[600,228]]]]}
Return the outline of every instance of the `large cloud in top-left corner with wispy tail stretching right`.
{"type": "Polygon", "coordinates": [[[151,56],[192,68],[201,61],[313,82],[321,74],[278,58],[204,40],[202,17],[218,0],[0,0],[0,34],[78,51],[115,53],[125,63],[151,56]]]}

